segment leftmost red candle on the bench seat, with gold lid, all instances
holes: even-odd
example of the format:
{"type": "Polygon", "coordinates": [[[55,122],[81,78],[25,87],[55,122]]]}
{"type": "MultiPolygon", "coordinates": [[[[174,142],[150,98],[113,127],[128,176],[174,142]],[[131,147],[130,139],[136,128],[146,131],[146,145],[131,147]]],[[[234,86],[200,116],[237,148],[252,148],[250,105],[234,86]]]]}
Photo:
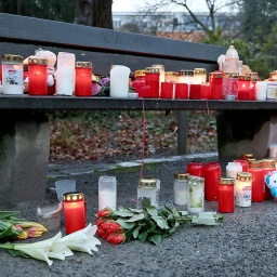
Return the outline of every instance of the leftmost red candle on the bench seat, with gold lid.
{"type": "Polygon", "coordinates": [[[48,61],[45,58],[28,58],[28,85],[29,95],[48,95],[48,61]]]}

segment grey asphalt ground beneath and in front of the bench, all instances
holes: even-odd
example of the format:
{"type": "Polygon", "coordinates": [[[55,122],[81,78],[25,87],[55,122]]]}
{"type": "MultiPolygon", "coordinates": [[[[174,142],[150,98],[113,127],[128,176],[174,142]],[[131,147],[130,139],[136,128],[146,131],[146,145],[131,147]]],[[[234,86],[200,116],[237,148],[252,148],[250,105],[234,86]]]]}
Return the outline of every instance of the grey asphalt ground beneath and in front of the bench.
{"type": "MultiPolygon", "coordinates": [[[[172,206],[173,174],[184,172],[190,160],[217,160],[215,154],[145,160],[144,176],[161,180],[161,205],[172,206]],[[150,166],[147,166],[150,162],[150,166]]],[[[221,163],[225,174],[226,163],[221,163]]],[[[77,188],[85,195],[88,223],[95,221],[97,210],[97,181],[101,175],[115,175],[118,181],[118,205],[134,207],[140,176],[140,161],[122,164],[70,162],[51,164],[47,203],[56,202],[50,188],[54,181],[75,179],[77,188]],[[118,168],[120,166],[120,168],[118,168]],[[124,167],[124,168],[123,168],[124,167]]],[[[38,202],[21,203],[14,209],[21,215],[36,220],[38,202]]],[[[1,207],[4,209],[4,207],[1,207]]],[[[216,202],[207,202],[206,209],[216,211],[216,202]]],[[[62,232],[64,225],[62,222],[62,232]]],[[[42,238],[55,235],[51,232],[42,238]]],[[[66,261],[55,260],[52,266],[32,259],[12,258],[0,250],[0,277],[11,276],[277,276],[277,205],[273,200],[252,203],[250,208],[236,208],[225,214],[217,226],[185,225],[159,246],[131,241],[113,246],[102,240],[93,255],[76,252],[66,261]]]]}

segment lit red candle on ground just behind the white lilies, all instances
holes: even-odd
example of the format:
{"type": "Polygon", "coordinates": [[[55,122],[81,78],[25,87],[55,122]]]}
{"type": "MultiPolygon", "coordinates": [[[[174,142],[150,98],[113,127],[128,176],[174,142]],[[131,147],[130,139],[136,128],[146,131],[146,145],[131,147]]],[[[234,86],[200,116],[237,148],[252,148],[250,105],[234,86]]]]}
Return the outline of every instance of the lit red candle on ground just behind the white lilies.
{"type": "Polygon", "coordinates": [[[71,234],[85,226],[85,206],[82,193],[64,194],[66,234],[71,234]]]}

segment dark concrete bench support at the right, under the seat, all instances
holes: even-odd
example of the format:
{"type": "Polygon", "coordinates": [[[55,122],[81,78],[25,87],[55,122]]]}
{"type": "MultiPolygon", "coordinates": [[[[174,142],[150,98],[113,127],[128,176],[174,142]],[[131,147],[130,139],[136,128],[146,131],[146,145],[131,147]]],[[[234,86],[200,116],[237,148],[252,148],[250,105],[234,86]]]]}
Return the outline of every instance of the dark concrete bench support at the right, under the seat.
{"type": "Polygon", "coordinates": [[[268,157],[268,145],[277,142],[277,113],[274,110],[225,110],[216,117],[221,161],[232,161],[243,153],[256,159],[268,157]]]}

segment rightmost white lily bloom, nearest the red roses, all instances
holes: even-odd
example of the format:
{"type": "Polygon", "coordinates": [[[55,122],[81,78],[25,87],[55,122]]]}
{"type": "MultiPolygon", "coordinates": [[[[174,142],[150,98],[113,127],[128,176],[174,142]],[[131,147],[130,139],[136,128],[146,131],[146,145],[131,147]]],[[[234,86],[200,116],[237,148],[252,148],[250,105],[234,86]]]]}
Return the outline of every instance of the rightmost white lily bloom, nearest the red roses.
{"type": "Polygon", "coordinates": [[[94,237],[96,230],[97,226],[92,226],[90,223],[85,228],[69,234],[58,239],[57,242],[65,243],[70,250],[92,254],[92,251],[98,251],[96,246],[101,245],[101,241],[94,237]]]}

